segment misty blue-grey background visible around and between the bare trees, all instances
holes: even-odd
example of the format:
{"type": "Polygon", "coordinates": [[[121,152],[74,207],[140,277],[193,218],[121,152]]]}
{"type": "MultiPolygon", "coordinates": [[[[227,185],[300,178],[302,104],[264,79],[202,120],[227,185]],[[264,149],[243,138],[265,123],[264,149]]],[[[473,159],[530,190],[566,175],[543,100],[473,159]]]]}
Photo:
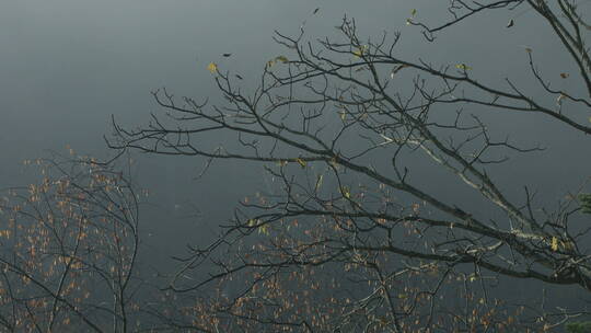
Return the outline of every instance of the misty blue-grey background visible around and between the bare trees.
{"type": "MultiPolygon", "coordinates": [[[[2,0],[0,187],[34,181],[36,174],[24,170],[22,161],[46,157],[49,150],[67,153],[66,147],[71,147],[80,154],[113,156],[103,140],[111,134],[112,115],[128,128],[147,124],[150,113],[161,111],[150,95],[154,89],[223,103],[206,69],[210,61],[243,76],[243,85],[256,84],[268,59],[289,56],[273,42],[274,30],[293,35],[304,24],[311,39],[333,36],[344,15],[357,20],[361,36],[401,31],[397,49],[408,59],[470,64],[482,81],[501,85],[510,77],[533,96],[555,103],[532,85],[524,51],[530,47],[544,73],[563,84],[554,88],[582,93],[576,79],[556,80],[573,68],[533,12],[488,11],[427,43],[419,28],[405,22],[413,9],[422,21],[443,22],[448,3],[440,2],[2,0]],[[315,8],[320,11],[312,15],[315,8]],[[507,28],[512,18],[515,24],[507,28]],[[223,58],[224,53],[232,56],[223,58]]],[[[581,9],[588,13],[591,5],[581,9]]],[[[538,191],[541,205],[553,208],[589,176],[591,149],[581,146],[583,135],[542,116],[495,113],[484,119],[499,138],[510,134],[517,142],[547,148],[496,169],[510,197],[523,198],[523,185],[529,185],[538,191]]],[[[220,143],[224,139],[209,138],[220,143]]],[[[204,163],[198,158],[134,158],[135,181],[152,193],[141,220],[144,243],[150,255],[161,260],[178,254],[187,243],[207,242],[216,227],[231,218],[237,200],[266,186],[259,164],[216,162],[195,180],[204,163]]],[[[426,174],[424,181],[450,202],[464,195],[465,207],[480,205],[465,192],[450,191],[437,173],[426,174]]]]}

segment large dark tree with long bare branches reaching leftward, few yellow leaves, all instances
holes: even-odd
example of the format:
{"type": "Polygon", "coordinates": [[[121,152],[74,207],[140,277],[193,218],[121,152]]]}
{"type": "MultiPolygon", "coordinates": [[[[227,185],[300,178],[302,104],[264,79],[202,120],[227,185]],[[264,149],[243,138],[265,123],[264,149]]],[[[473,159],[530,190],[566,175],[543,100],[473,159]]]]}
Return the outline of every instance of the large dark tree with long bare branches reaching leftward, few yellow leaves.
{"type": "Polygon", "coordinates": [[[466,64],[399,58],[401,34],[362,38],[345,18],[338,38],[276,32],[287,54],[266,64],[251,94],[242,77],[212,62],[223,105],[159,90],[153,96],[165,117],[153,115],[137,130],[114,122],[112,148],[201,157],[206,168],[215,160],[260,162],[275,184],[241,203],[217,241],[182,260],[170,290],[190,306],[169,324],[210,332],[525,332],[583,313],[510,307],[489,292],[503,278],[589,292],[591,262],[578,199],[583,187],[557,209],[536,206],[529,187],[523,199],[508,195],[496,168],[542,148],[498,139],[483,120],[491,112],[523,113],[591,134],[589,28],[577,1],[451,0],[449,21],[431,26],[413,12],[407,22],[437,43],[450,26],[515,9],[552,27],[586,95],[553,89],[530,48],[523,61],[544,99],[511,78],[487,83],[466,64]],[[235,140],[205,145],[211,135],[235,140]],[[501,217],[438,195],[413,166],[426,160],[501,217]]]}

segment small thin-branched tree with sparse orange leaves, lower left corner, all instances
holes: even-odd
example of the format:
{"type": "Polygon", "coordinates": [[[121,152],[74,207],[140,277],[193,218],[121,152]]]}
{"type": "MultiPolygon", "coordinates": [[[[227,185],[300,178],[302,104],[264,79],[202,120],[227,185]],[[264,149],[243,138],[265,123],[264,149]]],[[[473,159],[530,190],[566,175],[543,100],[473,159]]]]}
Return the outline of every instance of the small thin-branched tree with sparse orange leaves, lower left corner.
{"type": "Polygon", "coordinates": [[[3,332],[129,332],[139,319],[138,197],[126,173],[71,156],[0,202],[3,332]]]}

